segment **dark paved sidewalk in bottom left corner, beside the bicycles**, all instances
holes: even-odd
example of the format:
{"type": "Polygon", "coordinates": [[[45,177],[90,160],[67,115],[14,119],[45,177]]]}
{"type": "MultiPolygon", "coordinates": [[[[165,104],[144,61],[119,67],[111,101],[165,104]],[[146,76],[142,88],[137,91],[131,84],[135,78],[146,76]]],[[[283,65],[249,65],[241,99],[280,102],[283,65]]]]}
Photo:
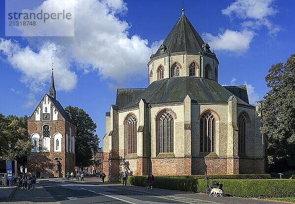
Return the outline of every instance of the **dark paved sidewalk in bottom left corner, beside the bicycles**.
{"type": "Polygon", "coordinates": [[[8,198],[5,200],[5,204],[9,204],[10,202],[19,202],[19,201],[26,202],[27,204],[30,204],[30,203],[36,204],[36,203],[45,203],[45,202],[46,204],[60,204],[59,202],[55,201],[55,199],[52,197],[50,193],[48,193],[42,186],[40,186],[39,182],[36,183],[35,191],[17,189],[12,198],[8,198]]]}

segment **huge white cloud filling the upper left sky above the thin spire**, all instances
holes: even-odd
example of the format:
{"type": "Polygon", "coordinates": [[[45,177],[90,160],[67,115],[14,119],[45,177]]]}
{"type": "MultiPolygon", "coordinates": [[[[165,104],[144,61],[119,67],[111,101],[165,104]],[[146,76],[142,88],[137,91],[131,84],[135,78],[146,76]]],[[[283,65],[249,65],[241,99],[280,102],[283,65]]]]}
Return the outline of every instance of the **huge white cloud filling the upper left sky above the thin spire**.
{"type": "MultiPolygon", "coordinates": [[[[0,39],[0,52],[7,62],[24,74],[22,81],[37,90],[40,84],[48,86],[51,62],[55,63],[55,77],[59,89],[76,86],[73,65],[87,74],[97,70],[102,78],[122,83],[134,76],[146,75],[151,53],[148,40],[139,35],[129,36],[130,25],[120,20],[128,9],[123,0],[63,0],[74,5],[75,36],[28,38],[29,46],[16,41],[0,39]]],[[[46,0],[36,9],[60,8],[59,0],[46,0]]],[[[58,24],[58,22],[57,22],[58,24]]],[[[29,31],[26,27],[25,32],[29,31]]],[[[57,25],[57,29],[64,29],[57,25]]],[[[59,31],[57,31],[59,32],[59,31]]],[[[42,88],[42,86],[41,86],[42,88]]]]}

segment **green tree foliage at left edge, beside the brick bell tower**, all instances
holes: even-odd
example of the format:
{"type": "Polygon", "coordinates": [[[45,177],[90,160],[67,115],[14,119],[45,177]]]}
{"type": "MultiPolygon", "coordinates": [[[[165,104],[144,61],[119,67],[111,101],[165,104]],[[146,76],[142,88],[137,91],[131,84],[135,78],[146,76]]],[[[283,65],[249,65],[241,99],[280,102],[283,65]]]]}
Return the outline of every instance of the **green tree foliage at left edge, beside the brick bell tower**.
{"type": "Polygon", "coordinates": [[[0,114],[0,159],[10,158],[18,161],[20,165],[26,165],[27,156],[33,145],[29,141],[27,131],[28,116],[17,117],[0,114]]]}

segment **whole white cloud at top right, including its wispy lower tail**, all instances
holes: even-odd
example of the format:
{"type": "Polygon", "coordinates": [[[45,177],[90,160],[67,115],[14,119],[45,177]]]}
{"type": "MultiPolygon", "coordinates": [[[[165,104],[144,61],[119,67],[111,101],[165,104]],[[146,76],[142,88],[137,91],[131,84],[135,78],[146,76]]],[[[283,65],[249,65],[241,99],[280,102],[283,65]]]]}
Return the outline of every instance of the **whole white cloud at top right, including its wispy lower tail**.
{"type": "Polygon", "coordinates": [[[268,19],[278,13],[272,3],[273,0],[236,0],[221,12],[245,20],[241,23],[243,28],[258,30],[266,26],[269,35],[276,35],[282,28],[268,19]]]}

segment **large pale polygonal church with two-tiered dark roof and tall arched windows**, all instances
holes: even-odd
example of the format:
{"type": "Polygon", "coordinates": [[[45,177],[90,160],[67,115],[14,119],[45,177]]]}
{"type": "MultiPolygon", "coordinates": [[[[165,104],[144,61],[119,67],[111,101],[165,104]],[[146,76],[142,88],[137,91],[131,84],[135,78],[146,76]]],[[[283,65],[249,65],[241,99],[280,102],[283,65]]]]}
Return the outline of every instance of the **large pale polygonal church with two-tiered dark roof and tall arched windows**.
{"type": "Polygon", "coordinates": [[[182,13],[148,62],[149,86],[118,89],[106,112],[103,171],[265,173],[261,114],[247,88],[218,83],[219,61],[182,13]]]}

